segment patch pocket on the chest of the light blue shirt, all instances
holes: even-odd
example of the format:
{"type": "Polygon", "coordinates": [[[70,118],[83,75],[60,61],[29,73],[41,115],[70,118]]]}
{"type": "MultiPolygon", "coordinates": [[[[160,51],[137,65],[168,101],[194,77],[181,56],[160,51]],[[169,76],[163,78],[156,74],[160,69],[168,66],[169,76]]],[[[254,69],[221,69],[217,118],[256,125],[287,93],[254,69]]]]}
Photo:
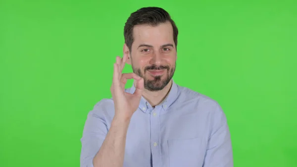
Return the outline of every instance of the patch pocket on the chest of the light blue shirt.
{"type": "Polygon", "coordinates": [[[168,140],[169,167],[202,167],[206,152],[203,138],[168,140]]]}

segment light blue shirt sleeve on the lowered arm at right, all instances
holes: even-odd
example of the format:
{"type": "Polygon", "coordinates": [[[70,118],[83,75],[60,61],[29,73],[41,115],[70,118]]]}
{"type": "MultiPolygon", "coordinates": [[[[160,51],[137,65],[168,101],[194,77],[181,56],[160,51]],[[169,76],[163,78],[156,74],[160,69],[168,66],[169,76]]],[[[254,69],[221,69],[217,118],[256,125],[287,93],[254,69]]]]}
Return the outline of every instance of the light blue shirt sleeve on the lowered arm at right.
{"type": "Polygon", "coordinates": [[[233,151],[227,119],[217,104],[203,167],[233,167],[233,151]]]}

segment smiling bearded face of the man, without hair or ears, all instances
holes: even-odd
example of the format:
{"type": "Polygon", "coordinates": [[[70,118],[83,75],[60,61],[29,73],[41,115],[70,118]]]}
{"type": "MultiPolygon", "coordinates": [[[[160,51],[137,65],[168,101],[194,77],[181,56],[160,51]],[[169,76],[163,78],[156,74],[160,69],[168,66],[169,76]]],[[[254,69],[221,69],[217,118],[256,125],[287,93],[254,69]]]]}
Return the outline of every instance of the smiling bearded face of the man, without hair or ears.
{"type": "Polygon", "coordinates": [[[162,90],[173,77],[176,48],[170,22],[158,26],[137,25],[130,55],[133,72],[144,78],[149,91],[162,90]]]}

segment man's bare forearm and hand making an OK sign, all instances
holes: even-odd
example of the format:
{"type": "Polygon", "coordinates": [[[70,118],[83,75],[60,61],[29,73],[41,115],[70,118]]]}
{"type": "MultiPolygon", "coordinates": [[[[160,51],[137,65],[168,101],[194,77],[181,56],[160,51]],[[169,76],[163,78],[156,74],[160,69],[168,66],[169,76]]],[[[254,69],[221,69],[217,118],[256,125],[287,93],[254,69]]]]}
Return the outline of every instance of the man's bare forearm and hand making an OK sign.
{"type": "Polygon", "coordinates": [[[116,57],[113,66],[113,80],[110,88],[115,115],[112,119],[108,133],[93,159],[94,167],[123,167],[126,135],[130,119],[137,110],[142,92],[144,90],[144,79],[134,73],[122,74],[127,56],[121,59],[116,57]],[[137,84],[134,94],[125,92],[127,79],[135,79],[137,84]]]}

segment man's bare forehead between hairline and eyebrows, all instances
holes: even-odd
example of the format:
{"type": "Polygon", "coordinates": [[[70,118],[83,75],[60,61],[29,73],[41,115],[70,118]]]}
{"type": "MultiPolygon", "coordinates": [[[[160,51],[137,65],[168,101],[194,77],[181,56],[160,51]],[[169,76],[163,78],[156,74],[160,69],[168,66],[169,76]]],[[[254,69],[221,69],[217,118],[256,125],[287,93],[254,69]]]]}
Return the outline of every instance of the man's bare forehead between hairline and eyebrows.
{"type": "Polygon", "coordinates": [[[133,28],[133,45],[148,44],[155,47],[172,43],[173,28],[170,22],[160,23],[157,26],[136,25],[133,28]]]}

